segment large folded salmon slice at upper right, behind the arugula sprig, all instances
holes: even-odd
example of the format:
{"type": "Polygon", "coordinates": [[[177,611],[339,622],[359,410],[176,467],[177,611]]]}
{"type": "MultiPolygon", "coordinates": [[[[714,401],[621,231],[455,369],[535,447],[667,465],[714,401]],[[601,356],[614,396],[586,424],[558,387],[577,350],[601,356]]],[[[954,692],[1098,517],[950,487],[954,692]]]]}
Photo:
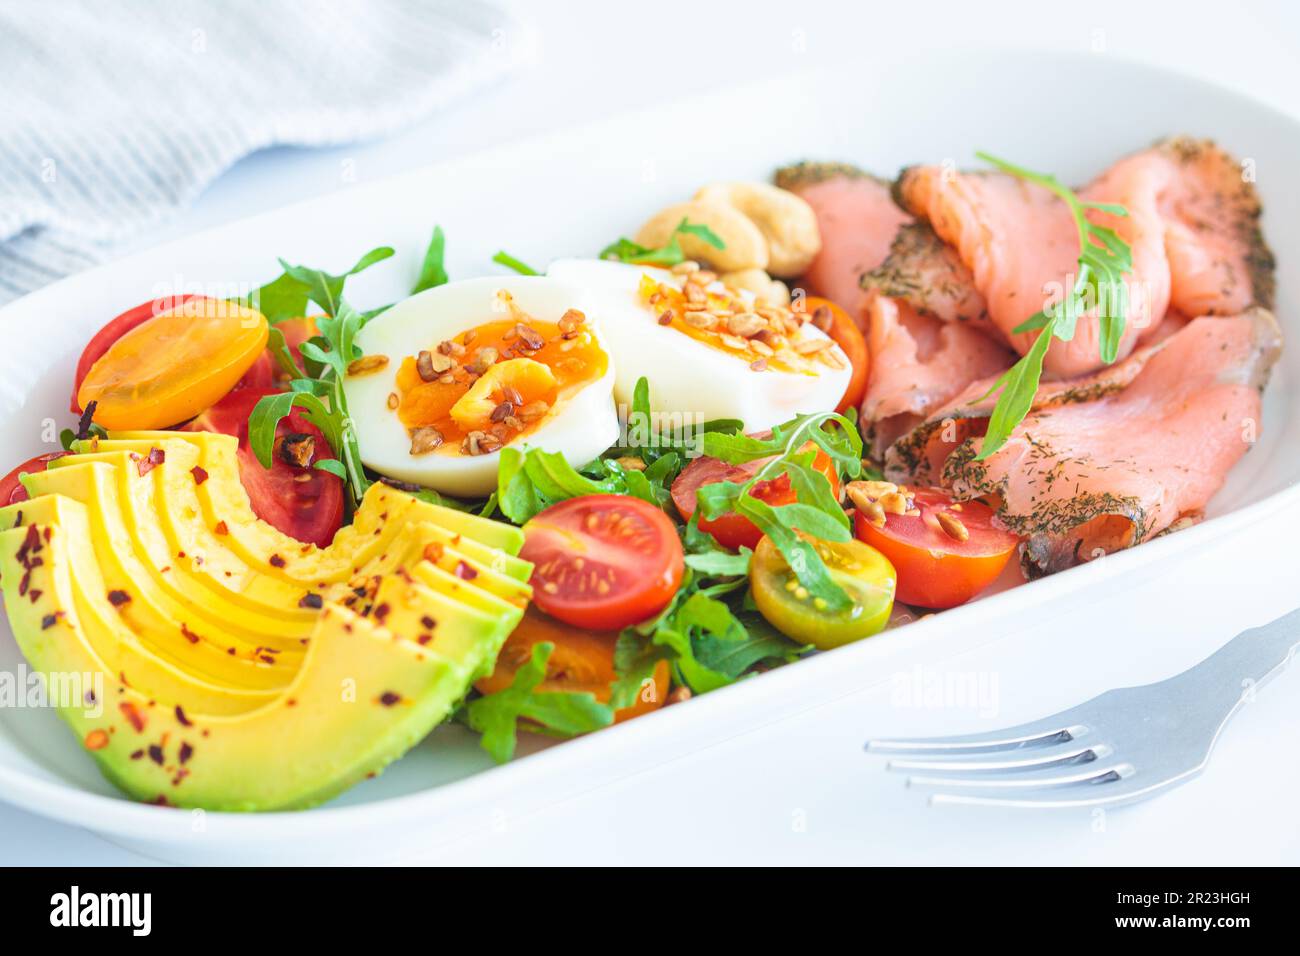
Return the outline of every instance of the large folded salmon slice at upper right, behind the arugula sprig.
{"type": "MultiPolygon", "coordinates": [[[[1023,355],[1037,333],[1013,329],[1074,285],[1079,238],[1066,204],[1009,174],[941,165],[904,170],[897,194],[953,246],[985,298],[993,325],[1023,355]]],[[[1124,157],[1079,195],[1128,209],[1126,217],[1089,213],[1132,250],[1121,358],[1154,330],[1170,304],[1187,315],[1232,315],[1271,304],[1273,258],[1260,235],[1258,198],[1242,166],[1213,143],[1158,143],[1124,157]]],[[[1052,343],[1046,376],[1100,368],[1098,336],[1093,312],[1070,342],[1052,343]]]]}

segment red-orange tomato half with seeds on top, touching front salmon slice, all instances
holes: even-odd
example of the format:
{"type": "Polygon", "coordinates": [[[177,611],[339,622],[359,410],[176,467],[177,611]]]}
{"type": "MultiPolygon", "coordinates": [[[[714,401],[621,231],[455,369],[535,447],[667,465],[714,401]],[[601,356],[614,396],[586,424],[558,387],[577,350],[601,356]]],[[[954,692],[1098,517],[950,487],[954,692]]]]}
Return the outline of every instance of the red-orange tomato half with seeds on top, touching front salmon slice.
{"type": "Polygon", "coordinates": [[[954,502],[939,490],[911,497],[920,515],[887,514],[883,528],[858,511],[858,537],[889,558],[904,604],[942,609],[970,601],[1002,574],[1020,538],[997,527],[993,509],[980,501],[954,502]],[[944,529],[940,514],[956,536],[944,529]]]}

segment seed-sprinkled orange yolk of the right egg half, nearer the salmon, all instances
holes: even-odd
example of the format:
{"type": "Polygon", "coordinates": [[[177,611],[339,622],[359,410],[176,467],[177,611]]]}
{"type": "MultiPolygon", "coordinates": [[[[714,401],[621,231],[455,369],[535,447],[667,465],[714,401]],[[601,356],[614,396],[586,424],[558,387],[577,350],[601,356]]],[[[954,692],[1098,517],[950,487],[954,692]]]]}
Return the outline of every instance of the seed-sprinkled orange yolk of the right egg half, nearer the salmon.
{"type": "Polygon", "coordinates": [[[805,346],[794,343],[802,323],[788,308],[750,311],[741,298],[725,289],[706,289],[693,284],[690,277],[679,289],[653,276],[642,276],[638,294],[660,325],[734,355],[755,372],[818,375],[811,355],[798,351],[805,346]]]}

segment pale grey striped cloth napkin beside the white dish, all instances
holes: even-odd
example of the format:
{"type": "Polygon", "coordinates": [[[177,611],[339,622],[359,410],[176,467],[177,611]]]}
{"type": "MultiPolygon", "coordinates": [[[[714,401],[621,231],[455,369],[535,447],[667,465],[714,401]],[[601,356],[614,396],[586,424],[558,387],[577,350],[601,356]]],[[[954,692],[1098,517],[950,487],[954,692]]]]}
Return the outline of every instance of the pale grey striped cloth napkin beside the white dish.
{"type": "Polygon", "coordinates": [[[0,304],[240,157],[391,133],[512,65],[503,3],[0,0],[0,304]]]}

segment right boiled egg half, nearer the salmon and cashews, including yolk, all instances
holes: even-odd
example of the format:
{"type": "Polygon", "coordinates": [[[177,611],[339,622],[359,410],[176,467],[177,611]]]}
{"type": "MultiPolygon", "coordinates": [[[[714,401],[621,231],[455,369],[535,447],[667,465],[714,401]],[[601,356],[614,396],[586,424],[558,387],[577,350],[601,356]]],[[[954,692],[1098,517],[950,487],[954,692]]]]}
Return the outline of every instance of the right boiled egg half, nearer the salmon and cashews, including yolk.
{"type": "Polygon", "coordinates": [[[624,407],[645,376],[653,412],[740,419],[753,432],[833,410],[853,375],[844,351],[802,316],[707,273],[560,259],[547,274],[578,290],[608,342],[624,407]]]}

